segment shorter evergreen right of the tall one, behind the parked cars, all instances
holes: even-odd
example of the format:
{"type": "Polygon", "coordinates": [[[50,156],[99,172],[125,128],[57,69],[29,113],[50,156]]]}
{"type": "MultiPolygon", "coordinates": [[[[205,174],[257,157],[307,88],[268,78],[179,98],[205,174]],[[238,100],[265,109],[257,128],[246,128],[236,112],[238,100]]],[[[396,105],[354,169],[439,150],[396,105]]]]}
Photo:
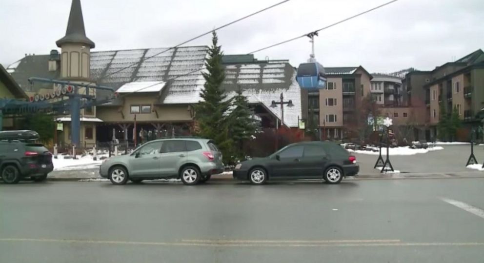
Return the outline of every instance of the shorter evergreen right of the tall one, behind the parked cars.
{"type": "Polygon", "coordinates": [[[242,160],[244,158],[243,142],[252,139],[259,129],[259,121],[253,118],[249,109],[249,101],[247,97],[243,96],[240,87],[232,101],[233,111],[229,115],[229,135],[234,142],[234,156],[242,160]]]}

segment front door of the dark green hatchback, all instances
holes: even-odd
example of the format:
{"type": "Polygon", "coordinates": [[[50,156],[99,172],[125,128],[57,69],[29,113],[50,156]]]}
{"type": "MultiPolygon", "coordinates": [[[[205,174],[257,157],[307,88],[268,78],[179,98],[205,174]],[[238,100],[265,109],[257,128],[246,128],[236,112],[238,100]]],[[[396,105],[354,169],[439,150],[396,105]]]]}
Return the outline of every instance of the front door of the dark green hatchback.
{"type": "Polygon", "coordinates": [[[272,162],[274,177],[298,177],[302,171],[302,145],[289,146],[278,153],[279,159],[272,162]]]}

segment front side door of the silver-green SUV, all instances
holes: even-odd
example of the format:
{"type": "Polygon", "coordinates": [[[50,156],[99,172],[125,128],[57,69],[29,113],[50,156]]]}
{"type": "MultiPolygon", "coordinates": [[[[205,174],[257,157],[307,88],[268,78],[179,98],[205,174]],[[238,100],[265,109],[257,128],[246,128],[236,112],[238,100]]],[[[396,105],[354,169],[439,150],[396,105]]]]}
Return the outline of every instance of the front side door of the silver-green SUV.
{"type": "Polygon", "coordinates": [[[148,142],[130,156],[131,177],[155,178],[160,176],[162,142],[148,142]]]}

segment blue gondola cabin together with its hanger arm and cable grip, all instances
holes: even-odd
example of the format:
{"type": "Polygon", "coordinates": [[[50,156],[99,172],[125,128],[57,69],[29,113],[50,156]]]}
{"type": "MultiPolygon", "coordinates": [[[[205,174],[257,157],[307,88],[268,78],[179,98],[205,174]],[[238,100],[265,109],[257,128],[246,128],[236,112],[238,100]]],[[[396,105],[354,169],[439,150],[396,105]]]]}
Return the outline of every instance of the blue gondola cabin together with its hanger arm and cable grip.
{"type": "Polygon", "coordinates": [[[311,43],[311,54],[306,63],[302,63],[298,67],[296,81],[302,89],[308,91],[316,91],[319,89],[326,89],[326,72],[322,64],[316,61],[314,55],[314,37],[318,36],[318,31],[306,35],[311,43]]]}

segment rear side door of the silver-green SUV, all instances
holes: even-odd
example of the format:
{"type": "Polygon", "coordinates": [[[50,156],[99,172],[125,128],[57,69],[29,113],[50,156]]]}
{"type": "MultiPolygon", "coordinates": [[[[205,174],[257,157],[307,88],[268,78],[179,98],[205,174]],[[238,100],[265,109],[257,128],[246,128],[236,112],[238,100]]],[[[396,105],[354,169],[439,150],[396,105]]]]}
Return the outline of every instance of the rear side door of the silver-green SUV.
{"type": "Polygon", "coordinates": [[[187,161],[186,143],[184,140],[168,140],[161,145],[161,177],[176,176],[178,169],[187,161]]]}

